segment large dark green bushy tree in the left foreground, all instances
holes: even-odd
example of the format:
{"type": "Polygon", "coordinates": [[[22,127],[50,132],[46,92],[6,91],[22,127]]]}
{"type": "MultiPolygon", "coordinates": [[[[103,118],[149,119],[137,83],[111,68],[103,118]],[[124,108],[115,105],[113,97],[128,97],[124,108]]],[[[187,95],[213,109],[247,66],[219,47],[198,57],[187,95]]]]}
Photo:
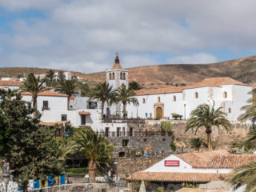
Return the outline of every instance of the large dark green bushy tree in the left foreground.
{"type": "Polygon", "coordinates": [[[39,126],[39,115],[32,118],[35,109],[30,102],[22,101],[20,94],[8,99],[6,93],[1,92],[0,108],[1,118],[6,119],[10,127],[2,158],[10,162],[14,180],[20,182],[23,191],[27,191],[29,179],[45,180],[48,174],[60,174],[62,162],[47,149],[54,138],[54,128],[39,126]]]}

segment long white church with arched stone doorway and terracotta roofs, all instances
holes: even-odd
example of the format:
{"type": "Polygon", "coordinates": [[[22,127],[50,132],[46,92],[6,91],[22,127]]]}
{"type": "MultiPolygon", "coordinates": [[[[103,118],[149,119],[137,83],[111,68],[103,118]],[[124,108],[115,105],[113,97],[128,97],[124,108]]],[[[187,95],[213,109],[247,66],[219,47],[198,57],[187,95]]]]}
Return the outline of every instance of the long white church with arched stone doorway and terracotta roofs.
{"type": "Polygon", "coordinates": [[[139,106],[127,106],[130,118],[170,118],[171,114],[189,118],[200,104],[222,107],[229,120],[237,120],[242,106],[250,98],[251,86],[232,78],[205,78],[192,86],[168,87],[155,90],[138,90],[139,106]]]}

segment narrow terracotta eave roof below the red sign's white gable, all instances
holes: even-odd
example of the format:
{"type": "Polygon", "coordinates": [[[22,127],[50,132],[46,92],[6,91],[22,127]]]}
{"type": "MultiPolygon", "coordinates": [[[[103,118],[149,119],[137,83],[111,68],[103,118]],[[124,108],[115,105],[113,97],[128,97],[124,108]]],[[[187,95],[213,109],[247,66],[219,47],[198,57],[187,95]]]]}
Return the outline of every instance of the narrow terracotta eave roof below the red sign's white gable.
{"type": "Polygon", "coordinates": [[[155,182],[210,182],[222,181],[227,174],[205,173],[170,173],[170,172],[136,172],[128,180],[155,182]]]}

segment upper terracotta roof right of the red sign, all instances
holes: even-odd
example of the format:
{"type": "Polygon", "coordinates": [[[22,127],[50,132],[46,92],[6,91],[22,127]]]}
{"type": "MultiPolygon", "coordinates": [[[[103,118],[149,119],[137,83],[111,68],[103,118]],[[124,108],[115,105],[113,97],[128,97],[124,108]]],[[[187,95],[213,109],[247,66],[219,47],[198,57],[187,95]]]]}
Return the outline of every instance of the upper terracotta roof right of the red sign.
{"type": "Polygon", "coordinates": [[[229,154],[226,150],[175,154],[193,168],[234,169],[256,161],[256,154],[229,154]]]}

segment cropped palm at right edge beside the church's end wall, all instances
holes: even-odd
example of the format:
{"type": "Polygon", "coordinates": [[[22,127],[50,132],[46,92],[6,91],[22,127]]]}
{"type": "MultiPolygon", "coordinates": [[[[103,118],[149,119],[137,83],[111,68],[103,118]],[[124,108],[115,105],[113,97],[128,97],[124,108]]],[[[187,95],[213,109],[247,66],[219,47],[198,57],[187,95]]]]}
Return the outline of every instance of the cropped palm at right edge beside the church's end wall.
{"type": "Polygon", "coordinates": [[[238,117],[238,121],[246,122],[250,120],[254,125],[256,122],[256,89],[250,91],[249,94],[252,94],[252,97],[247,100],[250,105],[242,106],[241,110],[246,111],[238,117]]]}

